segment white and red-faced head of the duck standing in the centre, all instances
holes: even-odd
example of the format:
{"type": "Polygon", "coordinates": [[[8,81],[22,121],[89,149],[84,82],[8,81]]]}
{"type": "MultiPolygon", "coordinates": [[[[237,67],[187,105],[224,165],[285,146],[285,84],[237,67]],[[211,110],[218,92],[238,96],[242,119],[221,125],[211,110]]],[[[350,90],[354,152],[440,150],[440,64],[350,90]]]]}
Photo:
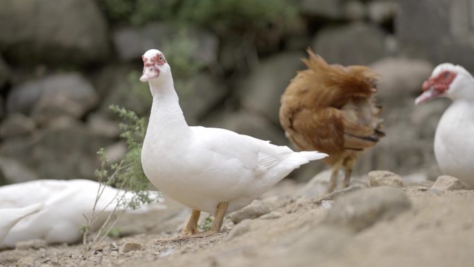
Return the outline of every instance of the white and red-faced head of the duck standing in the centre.
{"type": "Polygon", "coordinates": [[[161,51],[150,49],[141,56],[141,59],[143,60],[143,75],[140,80],[143,83],[148,81],[159,84],[164,80],[169,80],[171,68],[161,51]]]}

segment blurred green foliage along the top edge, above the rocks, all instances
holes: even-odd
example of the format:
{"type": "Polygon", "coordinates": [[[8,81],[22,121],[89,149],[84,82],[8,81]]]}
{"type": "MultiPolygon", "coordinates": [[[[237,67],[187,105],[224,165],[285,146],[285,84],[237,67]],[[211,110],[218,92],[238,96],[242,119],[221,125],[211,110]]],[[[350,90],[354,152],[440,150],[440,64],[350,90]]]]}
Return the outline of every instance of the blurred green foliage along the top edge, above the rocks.
{"type": "Polygon", "coordinates": [[[261,31],[269,26],[284,31],[297,17],[292,0],[98,0],[109,20],[132,25],[167,21],[202,26],[219,35],[261,31]]]}

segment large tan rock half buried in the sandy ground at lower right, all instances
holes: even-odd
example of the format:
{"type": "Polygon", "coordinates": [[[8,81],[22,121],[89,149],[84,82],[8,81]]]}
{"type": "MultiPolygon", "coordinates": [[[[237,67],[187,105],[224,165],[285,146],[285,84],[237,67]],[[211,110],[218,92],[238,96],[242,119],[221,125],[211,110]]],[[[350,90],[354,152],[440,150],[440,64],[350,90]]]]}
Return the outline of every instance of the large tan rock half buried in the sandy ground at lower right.
{"type": "Polygon", "coordinates": [[[410,207],[412,204],[401,189],[362,189],[337,198],[323,223],[359,232],[378,221],[390,220],[410,207]]]}

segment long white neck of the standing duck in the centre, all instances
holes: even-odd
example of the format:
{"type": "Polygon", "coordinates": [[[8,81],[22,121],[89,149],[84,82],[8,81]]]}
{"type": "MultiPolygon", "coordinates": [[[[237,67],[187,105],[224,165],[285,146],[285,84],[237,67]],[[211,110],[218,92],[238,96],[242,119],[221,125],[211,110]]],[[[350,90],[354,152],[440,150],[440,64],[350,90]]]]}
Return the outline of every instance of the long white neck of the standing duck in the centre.
{"type": "Polygon", "coordinates": [[[146,137],[172,141],[183,140],[191,135],[191,129],[184,119],[178,96],[169,77],[162,83],[150,82],[153,103],[146,137]]]}

